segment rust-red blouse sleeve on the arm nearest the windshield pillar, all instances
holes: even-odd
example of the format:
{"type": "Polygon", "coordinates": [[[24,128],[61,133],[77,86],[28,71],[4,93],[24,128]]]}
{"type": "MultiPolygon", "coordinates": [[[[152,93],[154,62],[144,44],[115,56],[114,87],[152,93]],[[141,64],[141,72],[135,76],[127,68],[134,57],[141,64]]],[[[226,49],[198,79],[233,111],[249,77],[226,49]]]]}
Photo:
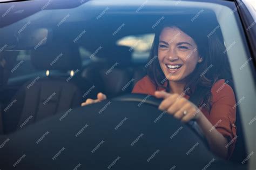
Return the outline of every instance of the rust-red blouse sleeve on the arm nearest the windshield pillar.
{"type": "Polygon", "coordinates": [[[237,140],[237,127],[235,126],[235,96],[232,87],[221,79],[215,83],[211,89],[212,107],[210,111],[210,121],[216,130],[223,134],[228,140],[225,146],[228,148],[229,159],[234,151],[235,142],[237,140]]]}

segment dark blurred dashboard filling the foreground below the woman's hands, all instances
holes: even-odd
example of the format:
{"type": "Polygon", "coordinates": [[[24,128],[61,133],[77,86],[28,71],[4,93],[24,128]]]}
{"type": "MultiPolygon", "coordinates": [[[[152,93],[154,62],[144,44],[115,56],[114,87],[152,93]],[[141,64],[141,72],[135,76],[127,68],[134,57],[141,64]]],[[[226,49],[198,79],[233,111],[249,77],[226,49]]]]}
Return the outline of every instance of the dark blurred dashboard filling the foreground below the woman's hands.
{"type": "Polygon", "coordinates": [[[22,158],[18,169],[201,169],[214,155],[197,125],[162,114],[160,102],[127,94],[61,112],[5,136],[0,166],[12,169],[22,158]]]}

